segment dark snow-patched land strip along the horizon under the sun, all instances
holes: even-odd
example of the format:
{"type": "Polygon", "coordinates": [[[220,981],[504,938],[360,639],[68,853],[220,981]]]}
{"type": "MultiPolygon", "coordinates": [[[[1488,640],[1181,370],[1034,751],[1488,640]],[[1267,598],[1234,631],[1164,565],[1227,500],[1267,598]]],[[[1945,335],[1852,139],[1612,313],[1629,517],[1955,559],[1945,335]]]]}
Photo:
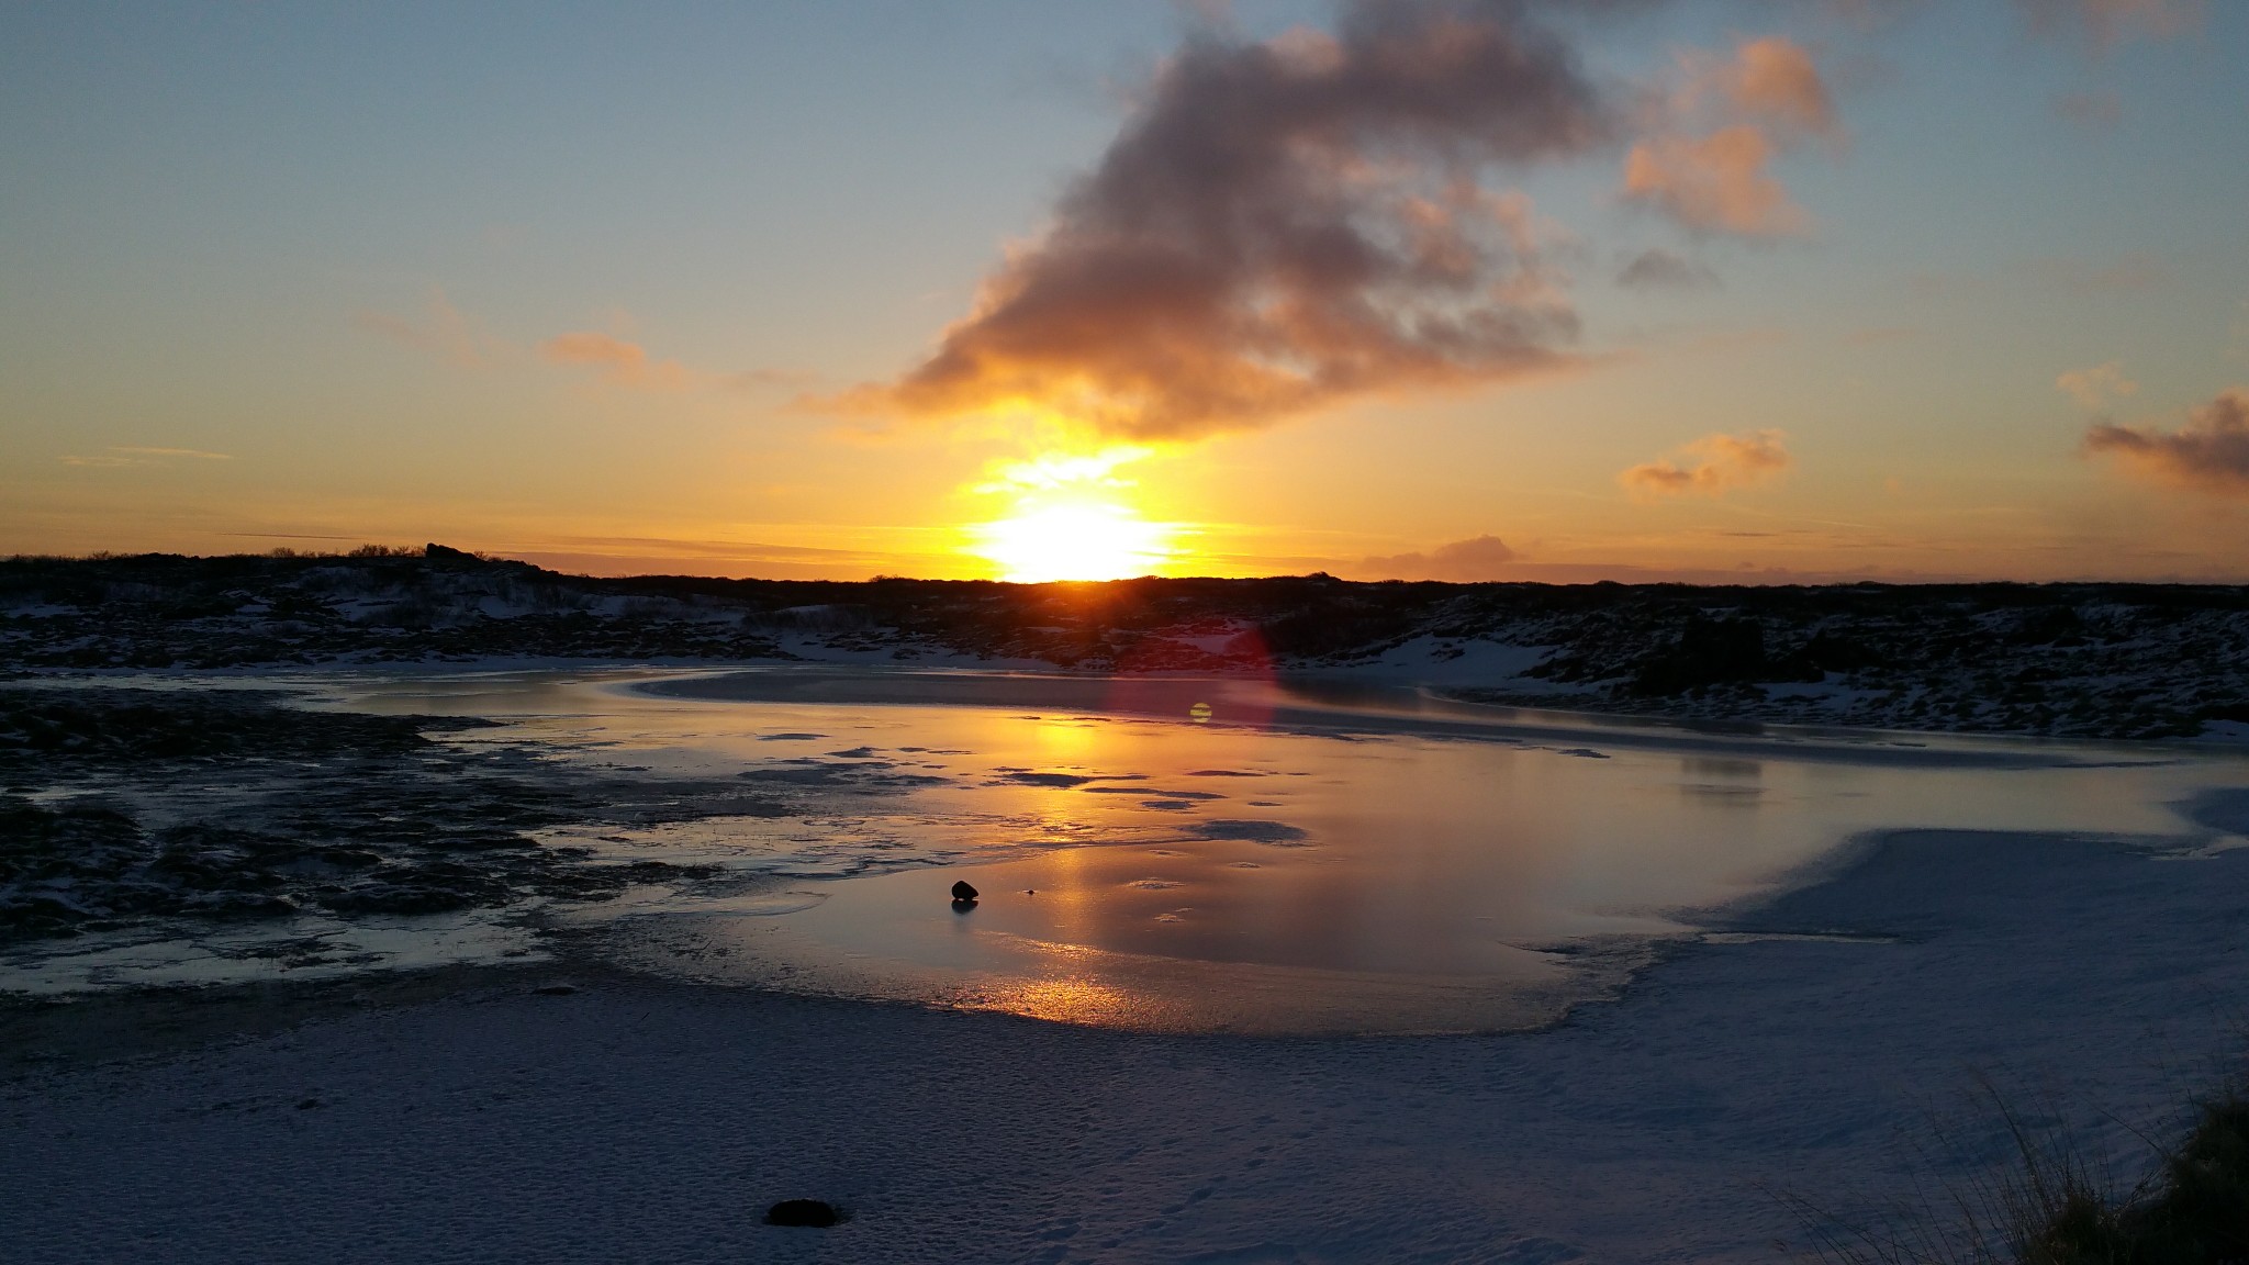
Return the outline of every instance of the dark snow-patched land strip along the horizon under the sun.
{"type": "MultiPolygon", "coordinates": [[[[2249,587],[587,578],[432,545],[0,560],[0,673],[832,653],[1073,671],[1444,669],[1482,702],[2080,738],[2249,723],[2249,587]],[[1475,664],[1464,660],[1460,666],[1475,664]]],[[[1433,673],[1435,675],[1435,673],[1433,673]]]]}

